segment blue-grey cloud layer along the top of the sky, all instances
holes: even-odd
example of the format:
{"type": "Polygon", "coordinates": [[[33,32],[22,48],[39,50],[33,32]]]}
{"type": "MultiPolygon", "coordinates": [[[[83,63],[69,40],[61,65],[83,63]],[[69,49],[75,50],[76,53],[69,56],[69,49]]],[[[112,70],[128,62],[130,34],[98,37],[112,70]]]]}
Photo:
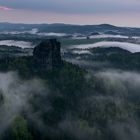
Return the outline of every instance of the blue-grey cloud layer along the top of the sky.
{"type": "Polygon", "coordinates": [[[132,0],[0,0],[1,5],[17,9],[42,10],[59,13],[93,14],[140,11],[140,2],[132,0]]]}

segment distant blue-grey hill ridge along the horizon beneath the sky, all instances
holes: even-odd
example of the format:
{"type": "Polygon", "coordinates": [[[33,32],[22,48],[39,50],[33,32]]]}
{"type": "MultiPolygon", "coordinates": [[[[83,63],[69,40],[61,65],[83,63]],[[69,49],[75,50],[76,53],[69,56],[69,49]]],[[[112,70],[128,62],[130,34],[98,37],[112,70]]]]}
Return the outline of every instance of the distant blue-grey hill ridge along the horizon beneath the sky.
{"type": "Polygon", "coordinates": [[[38,32],[55,32],[55,33],[82,33],[88,34],[91,32],[117,32],[118,34],[140,35],[140,28],[117,27],[110,24],[100,25],[71,25],[62,23],[53,24],[14,24],[0,23],[0,32],[3,31],[25,31],[37,29],[38,32]]]}

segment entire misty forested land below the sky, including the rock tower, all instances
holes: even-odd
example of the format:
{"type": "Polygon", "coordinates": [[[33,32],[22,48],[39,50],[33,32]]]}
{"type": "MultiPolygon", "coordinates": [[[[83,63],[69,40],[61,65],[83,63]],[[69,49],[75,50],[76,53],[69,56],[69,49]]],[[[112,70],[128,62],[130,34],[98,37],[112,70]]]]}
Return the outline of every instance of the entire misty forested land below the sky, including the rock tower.
{"type": "Polygon", "coordinates": [[[140,138],[140,29],[74,27],[0,26],[1,140],[140,138]]]}

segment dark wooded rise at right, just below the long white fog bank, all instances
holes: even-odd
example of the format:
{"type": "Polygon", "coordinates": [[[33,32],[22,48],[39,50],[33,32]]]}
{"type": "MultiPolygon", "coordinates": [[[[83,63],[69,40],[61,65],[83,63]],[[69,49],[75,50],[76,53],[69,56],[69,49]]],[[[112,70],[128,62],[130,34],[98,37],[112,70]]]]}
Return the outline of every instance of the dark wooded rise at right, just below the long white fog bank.
{"type": "Polygon", "coordinates": [[[115,47],[93,48],[92,61],[109,62],[108,68],[119,68],[122,70],[140,70],[140,53],[130,53],[127,50],[115,47]],[[96,57],[94,57],[96,56],[96,57]]]}

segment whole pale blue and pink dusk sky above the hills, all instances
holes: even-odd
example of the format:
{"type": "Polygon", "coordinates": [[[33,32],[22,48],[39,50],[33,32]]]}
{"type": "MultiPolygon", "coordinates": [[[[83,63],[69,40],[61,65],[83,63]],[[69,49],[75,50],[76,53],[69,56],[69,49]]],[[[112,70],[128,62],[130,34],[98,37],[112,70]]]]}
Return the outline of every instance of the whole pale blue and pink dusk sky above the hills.
{"type": "Polygon", "coordinates": [[[140,27],[140,0],[0,0],[0,22],[140,27]]]}

